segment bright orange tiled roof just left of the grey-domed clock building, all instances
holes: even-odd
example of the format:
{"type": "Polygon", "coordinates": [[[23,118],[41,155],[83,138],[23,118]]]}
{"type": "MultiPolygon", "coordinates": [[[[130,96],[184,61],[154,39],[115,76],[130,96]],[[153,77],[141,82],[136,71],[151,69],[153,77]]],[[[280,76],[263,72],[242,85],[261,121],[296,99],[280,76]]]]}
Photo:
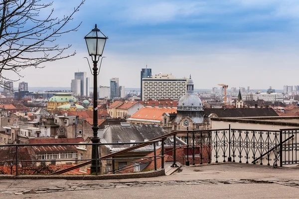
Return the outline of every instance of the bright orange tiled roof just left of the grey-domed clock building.
{"type": "Polygon", "coordinates": [[[162,121],[162,115],[164,112],[176,113],[176,108],[158,108],[158,107],[142,107],[139,111],[134,113],[130,118],[133,119],[148,119],[162,121]]]}

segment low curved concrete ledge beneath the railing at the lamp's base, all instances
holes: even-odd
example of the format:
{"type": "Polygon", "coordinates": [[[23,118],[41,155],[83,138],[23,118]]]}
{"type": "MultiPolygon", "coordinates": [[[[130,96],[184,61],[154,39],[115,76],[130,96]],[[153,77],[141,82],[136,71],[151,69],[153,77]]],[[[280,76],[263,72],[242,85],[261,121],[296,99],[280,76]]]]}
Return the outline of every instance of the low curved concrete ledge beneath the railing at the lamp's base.
{"type": "Polygon", "coordinates": [[[130,178],[153,178],[158,176],[164,176],[165,170],[160,169],[157,171],[138,172],[130,174],[105,174],[105,175],[0,175],[1,179],[65,179],[65,180],[114,180],[114,179],[130,179],[130,178]]]}

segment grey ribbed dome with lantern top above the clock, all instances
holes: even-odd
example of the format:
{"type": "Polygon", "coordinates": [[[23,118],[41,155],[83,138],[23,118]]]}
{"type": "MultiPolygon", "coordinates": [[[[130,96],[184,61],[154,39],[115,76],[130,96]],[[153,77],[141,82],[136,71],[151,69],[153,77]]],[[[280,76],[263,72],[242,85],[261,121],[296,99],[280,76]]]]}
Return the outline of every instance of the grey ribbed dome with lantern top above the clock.
{"type": "Polygon", "coordinates": [[[200,98],[194,94],[194,84],[191,75],[187,81],[186,94],[178,100],[177,110],[203,110],[200,98]]]}

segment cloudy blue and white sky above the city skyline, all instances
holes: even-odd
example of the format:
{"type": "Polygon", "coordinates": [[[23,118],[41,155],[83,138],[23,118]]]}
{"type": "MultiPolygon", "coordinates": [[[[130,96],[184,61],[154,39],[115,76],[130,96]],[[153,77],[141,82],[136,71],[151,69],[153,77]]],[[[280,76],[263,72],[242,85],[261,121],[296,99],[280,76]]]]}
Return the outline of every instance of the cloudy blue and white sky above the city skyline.
{"type": "MultiPolygon", "coordinates": [[[[54,13],[69,14],[79,1],[54,0],[54,13]]],[[[21,81],[70,87],[74,72],[91,77],[83,37],[97,23],[109,37],[99,85],[118,77],[139,88],[146,64],[153,74],[191,74],[196,89],[299,85],[299,0],[86,0],[69,25],[81,21],[58,40],[72,44],[76,56],[26,69],[21,81]]]]}

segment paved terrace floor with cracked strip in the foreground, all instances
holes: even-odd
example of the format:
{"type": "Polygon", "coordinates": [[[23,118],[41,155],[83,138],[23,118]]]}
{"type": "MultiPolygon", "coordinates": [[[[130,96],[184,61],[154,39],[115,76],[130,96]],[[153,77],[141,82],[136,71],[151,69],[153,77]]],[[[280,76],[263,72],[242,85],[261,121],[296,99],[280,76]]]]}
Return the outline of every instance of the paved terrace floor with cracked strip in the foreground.
{"type": "Polygon", "coordinates": [[[170,176],[124,180],[0,179],[0,199],[299,199],[299,167],[181,167],[170,176]]]}

